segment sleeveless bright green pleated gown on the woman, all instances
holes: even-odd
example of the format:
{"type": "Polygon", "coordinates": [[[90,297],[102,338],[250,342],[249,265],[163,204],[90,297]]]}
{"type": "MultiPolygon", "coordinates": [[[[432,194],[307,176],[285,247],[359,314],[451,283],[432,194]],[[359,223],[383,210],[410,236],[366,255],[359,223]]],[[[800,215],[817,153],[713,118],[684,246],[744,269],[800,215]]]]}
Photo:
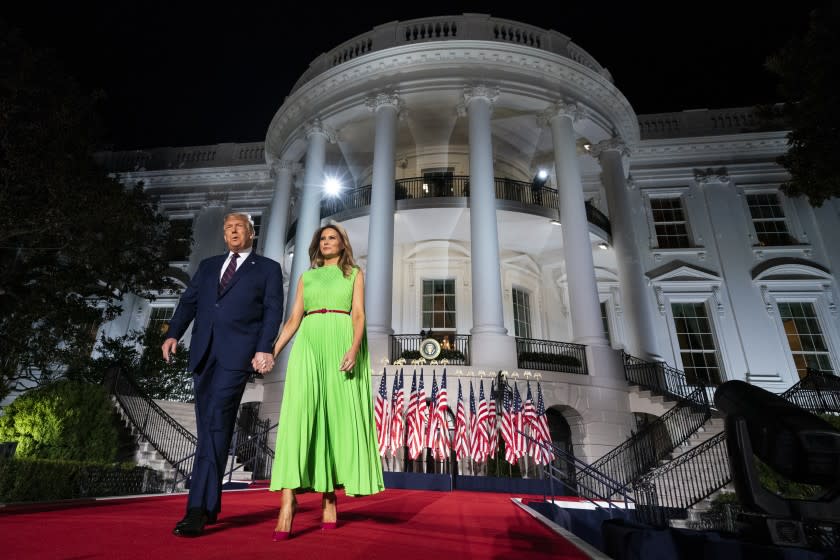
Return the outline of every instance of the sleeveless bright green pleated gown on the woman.
{"type": "MultiPolygon", "coordinates": [[[[303,308],[350,310],[358,269],[338,266],[304,272],[303,308]]],[[[301,321],[286,368],[271,490],[282,488],[368,495],[384,488],[376,446],[367,334],[350,372],[339,369],[353,343],[344,313],[316,313],[301,321]]]]}

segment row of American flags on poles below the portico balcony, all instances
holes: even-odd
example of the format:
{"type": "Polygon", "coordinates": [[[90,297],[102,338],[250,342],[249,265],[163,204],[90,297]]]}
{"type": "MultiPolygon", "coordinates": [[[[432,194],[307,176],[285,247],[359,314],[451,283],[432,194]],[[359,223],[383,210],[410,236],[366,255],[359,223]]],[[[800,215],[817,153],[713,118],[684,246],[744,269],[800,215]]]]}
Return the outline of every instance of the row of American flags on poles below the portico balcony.
{"type": "MultiPolygon", "coordinates": [[[[494,382],[491,382],[491,395],[495,392],[494,389],[494,382]]],[[[551,443],[545,402],[539,382],[537,382],[536,404],[532,398],[530,381],[527,382],[524,403],[516,382],[513,383],[513,389],[505,385],[502,411],[501,414],[497,414],[495,403],[485,399],[483,379],[479,381],[478,405],[476,406],[473,382],[470,380],[469,414],[467,414],[459,380],[454,437],[450,437],[449,434],[448,411],[445,368],[440,387],[437,384],[436,373],[432,371],[432,394],[428,402],[423,384],[423,369],[420,369],[419,385],[417,370],[414,371],[407,407],[405,406],[402,368],[394,374],[390,400],[388,399],[387,373],[383,371],[374,405],[379,454],[385,457],[390,453],[396,457],[403,447],[407,447],[408,457],[414,460],[428,448],[435,460],[443,461],[449,459],[450,452],[454,450],[459,461],[472,458],[477,463],[483,463],[488,458],[496,456],[498,440],[501,436],[505,442],[505,460],[509,463],[516,463],[526,455],[540,465],[548,464],[554,459],[549,449],[536,443],[551,443]],[[535,441],[522,435],[523,431],[535,441]]]]}

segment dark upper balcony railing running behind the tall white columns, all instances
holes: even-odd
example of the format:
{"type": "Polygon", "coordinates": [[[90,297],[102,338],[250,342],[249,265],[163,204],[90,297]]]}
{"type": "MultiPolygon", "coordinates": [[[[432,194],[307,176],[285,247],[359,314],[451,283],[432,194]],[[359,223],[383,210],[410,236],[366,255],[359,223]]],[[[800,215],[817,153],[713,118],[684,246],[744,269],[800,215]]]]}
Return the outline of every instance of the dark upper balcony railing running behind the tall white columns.
{"type": "MultiPolygon", "coordinates": [[[[497,200],[519,203],[526,206],[543,208],[558,212],[559,198],[557,189],[550,187],[535,188],[527,181],[516,181],[506,177],[494,179],[497,200]]],[[[410,177],[398,179],[394,184],[395,200],[422,200],[431,198],[467,198],[470,196],[470,178],[468,175],[453,175],[450,177],[410,177]]],[[[371,185],[343,192],[339,196],[325,198],[321,201],[321,218],[333,216],[341,212],[359,210],[370,206],[371,185]]],[[[559,214],[557,216],[559,218],[559,214]]],[[[611,235],[609,219],[590,202],[586,203],[586,217],[589,223],[601,228],[607,235],[611,235]]],[[[297,221],[293,222],[287,233],[291,239],[295,235],[297,221]]]]}

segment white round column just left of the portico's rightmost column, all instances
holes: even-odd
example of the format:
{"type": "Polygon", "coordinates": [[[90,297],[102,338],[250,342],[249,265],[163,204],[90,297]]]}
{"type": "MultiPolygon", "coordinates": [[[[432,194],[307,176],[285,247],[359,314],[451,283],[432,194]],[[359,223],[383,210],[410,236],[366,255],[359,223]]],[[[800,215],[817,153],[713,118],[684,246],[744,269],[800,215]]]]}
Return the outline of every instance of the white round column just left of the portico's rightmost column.
{"type": "Polygon", "coordinates": [[[588,346],[607,346],[601,323],[583,183],[577,161],[574,122],[581,115],[582,111],[576,103],[557,102],[541,115],[541,120],[551,124],[554,142],[554,165],[574,341],[588,346]]]}

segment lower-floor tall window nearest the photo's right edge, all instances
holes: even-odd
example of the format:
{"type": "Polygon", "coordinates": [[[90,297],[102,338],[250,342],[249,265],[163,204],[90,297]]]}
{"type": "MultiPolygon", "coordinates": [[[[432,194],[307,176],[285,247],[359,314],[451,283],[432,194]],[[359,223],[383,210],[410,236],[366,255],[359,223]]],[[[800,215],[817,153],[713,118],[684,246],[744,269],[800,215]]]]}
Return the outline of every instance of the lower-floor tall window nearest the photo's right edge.
{"type": "Polygon", "coordinates": [[[780,303],[779,316],[799,377],[803,377],[808,368],[833,371],[814,304],[807,301],[780,303]]]}

